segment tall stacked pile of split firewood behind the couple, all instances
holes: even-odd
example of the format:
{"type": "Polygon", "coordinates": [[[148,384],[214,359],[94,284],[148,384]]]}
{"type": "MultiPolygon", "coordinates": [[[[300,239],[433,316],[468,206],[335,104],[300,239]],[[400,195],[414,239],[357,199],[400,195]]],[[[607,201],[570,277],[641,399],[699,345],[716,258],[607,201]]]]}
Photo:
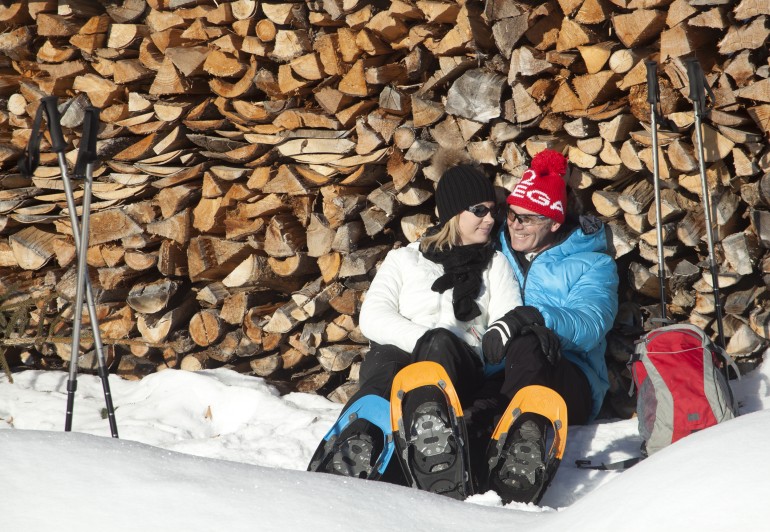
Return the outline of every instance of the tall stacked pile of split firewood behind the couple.
{"type": "MultiPolygon", "coordinates": [[[[703,137],[728,351],[756,358],[770,338],[769,19],[765,0],[0,5],[3,345],[45,367],[70,358],[76,257],[56,157],[44,140],[35,175],[15,170],[47,95],[70,164],[83,108],[102,109],[88,259],[127,378],[229,365],[344,401],[378,261],[435,219],[439,148],[506,189],[535,153],[564,151],[576,199],[611,229],[621,300],[654,317],[646,59],[670,124],[670,315],[713,332],[683,63],[697,56],[714,91],[703,137]]],[[[608,357],[627,350],[613,341],[608,357]]]]}

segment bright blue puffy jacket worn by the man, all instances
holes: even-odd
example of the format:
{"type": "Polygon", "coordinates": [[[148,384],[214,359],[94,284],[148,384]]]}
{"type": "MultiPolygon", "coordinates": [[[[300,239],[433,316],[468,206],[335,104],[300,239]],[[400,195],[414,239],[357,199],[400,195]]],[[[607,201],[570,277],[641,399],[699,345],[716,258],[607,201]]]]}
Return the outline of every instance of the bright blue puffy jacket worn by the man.
{"type": "Polygon", "coordinates": [[[618,271],[607,254],[601,222],[584,220],[586,229],[575,228],[560,243],[537,254],[526,272],[513,255],[505,224],[498,236],[519,280],[524,304],[540,311],[545,324],[559,336],[563,356],[588,378],[594,419],[609,388],[605,336],[618,311],[618,271]]]}

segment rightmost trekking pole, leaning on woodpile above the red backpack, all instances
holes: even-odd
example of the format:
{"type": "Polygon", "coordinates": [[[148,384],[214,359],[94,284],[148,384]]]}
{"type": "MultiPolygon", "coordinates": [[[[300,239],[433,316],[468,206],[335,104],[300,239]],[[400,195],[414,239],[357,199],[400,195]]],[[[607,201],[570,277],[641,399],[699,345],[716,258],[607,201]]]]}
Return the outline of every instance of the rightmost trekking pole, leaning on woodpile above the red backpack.
{"type": "MultiPolygon", "coordinates": [[[[708,189],[706,180],[706,161],[703,151],[703,132],[701,131],[701,122],[706,108],[706,93],[711,89],[704,83],[705,76],[700,63],[695,58],[685,60],[687,64],[687,78],[690,82],[690,100],[692,100],[693,110],[695,112],[695,136],[698,142],[698,167],[700,168],[701,188],[703,194],[703,212],[706,217],[706,241],[709,252],[709,268],[711,269],[711,283],[714,285],[714,306],[716,307],[717,332],[719,334],[719,345],[725,348],[725,333],[722,325],[722,298],[719,295],[719,272],[717,270],[717,261],[714,256],[714,235],[711,228],[711,193],[708,189]]],[[[713,97],[713,94],[712,94],[713,97]]]]}

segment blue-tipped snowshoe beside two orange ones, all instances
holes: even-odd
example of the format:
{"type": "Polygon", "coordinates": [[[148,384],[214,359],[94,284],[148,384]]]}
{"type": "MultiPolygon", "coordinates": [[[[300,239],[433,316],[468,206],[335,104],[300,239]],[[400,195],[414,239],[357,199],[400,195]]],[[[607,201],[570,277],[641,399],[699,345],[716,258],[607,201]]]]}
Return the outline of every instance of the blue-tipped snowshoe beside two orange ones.
{"type": "Polygon", "coordinates": [[[365,395],[350,405],[326,433],[310,460],[308,471],[376,480],[393,456],[390,405],[365,395]]]}

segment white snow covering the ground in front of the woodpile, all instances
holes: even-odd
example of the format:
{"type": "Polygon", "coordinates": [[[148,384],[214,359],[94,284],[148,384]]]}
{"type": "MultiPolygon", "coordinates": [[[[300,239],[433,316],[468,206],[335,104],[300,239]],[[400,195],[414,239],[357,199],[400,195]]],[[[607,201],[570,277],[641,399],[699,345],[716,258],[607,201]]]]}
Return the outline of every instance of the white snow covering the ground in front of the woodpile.
{"type": "Polygon", "coordinates": [[[770,362],[734,381],[743,415],[625,472],[578,469],[575,460],[636,456],[636,420],[570,427],[542,506],[307,473],[341,405],[280,396],[230,370],[110,376],[120,439],[103,418],[98,377],[78,376],[73,432],[63,431],[66,373],[13,377],[0,377],[3,531],[770,528],[770,362]]]}

